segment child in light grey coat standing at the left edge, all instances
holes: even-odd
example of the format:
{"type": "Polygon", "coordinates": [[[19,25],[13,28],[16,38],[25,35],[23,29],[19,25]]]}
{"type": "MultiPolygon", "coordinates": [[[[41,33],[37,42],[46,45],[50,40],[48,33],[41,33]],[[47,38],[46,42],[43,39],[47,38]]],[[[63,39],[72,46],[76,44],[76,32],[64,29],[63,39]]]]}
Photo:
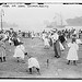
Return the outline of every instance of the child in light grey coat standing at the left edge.
{"type": "Polygon", "coordinates": [[[5,61],[5,44],[2,40],[0,40],[0,60],[5,61]]]}

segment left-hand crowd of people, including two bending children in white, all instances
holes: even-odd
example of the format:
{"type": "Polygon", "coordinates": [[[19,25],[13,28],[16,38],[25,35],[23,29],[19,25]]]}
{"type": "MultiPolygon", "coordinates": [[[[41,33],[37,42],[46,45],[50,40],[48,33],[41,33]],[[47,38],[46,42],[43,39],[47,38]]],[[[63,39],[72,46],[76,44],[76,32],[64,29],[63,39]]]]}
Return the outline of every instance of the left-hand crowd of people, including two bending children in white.
{"type": "MultiPolygon", "coordinates": [[[[30,73],[32,73],[32,68],[35,67],[38,74],[40,74],[39,62],[35,57],[32,57],[27,54],[23,45],[24,43],[21,40],[22,37],[24,37],[23,33],[21,31],[14,32],[13,28],[10,28],[10,31],[2,30],[0,32],[0,61],[1,62],[7,61],[5,51],[11,51],[10,49],[8,50],[5,47],[5,42],[8,42],[10,46],[13,45],[15,47],[13,57],[16,58],[16,61],[20,62],[21,60],[23,60],[23,62],[25,63],[24,59],[25,59],[25,56],[27,56],[28,60],[26,63],[28,65],[30,73]]],[[[34,37],[31,36],[28,38],[33,39],[34,37]]]]}

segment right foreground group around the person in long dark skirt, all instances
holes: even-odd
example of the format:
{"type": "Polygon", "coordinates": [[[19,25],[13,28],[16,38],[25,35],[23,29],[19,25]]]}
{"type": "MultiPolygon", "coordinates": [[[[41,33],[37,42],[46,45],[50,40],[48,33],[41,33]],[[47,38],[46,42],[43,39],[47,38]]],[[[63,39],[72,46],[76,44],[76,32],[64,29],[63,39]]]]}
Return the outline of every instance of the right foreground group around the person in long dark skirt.
{"type": "MultiPolygon", "coordinates": [[[[50,47],[50,39],[47,36],[47,34],[43,34],[44,37],[44,45],[45,47],[50,47]]],[[[67,60],[68,65],[73,61],[74,65],[77,65],[77,60],[79,60],[78,51],[79,51],[79,45],[82,45],[82,42],[79,37],[77,37],[77,34],[72,34],[72,37],[70,38],[71,42],[68,43],[68,39],[65,37],[63,34],[58,34],[56,31],[50,36],[51,38],[51,45],[54,46],[55,57],[60,58],[61,51],[66,51],[66,48],[69,47],[68,54],[67,54],[67,60]]]]}

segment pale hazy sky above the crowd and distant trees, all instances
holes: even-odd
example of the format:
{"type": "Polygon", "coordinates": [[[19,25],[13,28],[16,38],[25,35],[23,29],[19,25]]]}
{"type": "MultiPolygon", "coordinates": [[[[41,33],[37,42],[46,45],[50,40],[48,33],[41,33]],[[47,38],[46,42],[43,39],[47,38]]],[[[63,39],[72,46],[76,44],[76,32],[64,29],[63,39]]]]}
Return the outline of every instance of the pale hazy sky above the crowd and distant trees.
{"type": "Polygon", "coordinates": [[[39,31],[45,27],[45,22],[55,21],[56,13],[61,13],[63,20],[82,16],[80,4],[49,4],[49,8],[0,8],[3,9],[3,21],[17,24],[20,30],[39,31]]]}

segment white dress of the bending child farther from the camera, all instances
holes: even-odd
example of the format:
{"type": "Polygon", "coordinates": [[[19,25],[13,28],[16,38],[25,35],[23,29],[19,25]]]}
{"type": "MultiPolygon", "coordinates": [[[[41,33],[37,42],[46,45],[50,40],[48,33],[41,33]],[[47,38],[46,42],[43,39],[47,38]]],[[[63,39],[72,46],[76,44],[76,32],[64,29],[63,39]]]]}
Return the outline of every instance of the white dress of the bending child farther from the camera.
{"type": "Polygon", "coordinates": [[[14,56],[13,57],[19,57],[21,59],[24,59],[24,52],[25,52],[25,48],[23,45],[19,45],[16,46],[15,50],[14,50],[14,56]]]}

